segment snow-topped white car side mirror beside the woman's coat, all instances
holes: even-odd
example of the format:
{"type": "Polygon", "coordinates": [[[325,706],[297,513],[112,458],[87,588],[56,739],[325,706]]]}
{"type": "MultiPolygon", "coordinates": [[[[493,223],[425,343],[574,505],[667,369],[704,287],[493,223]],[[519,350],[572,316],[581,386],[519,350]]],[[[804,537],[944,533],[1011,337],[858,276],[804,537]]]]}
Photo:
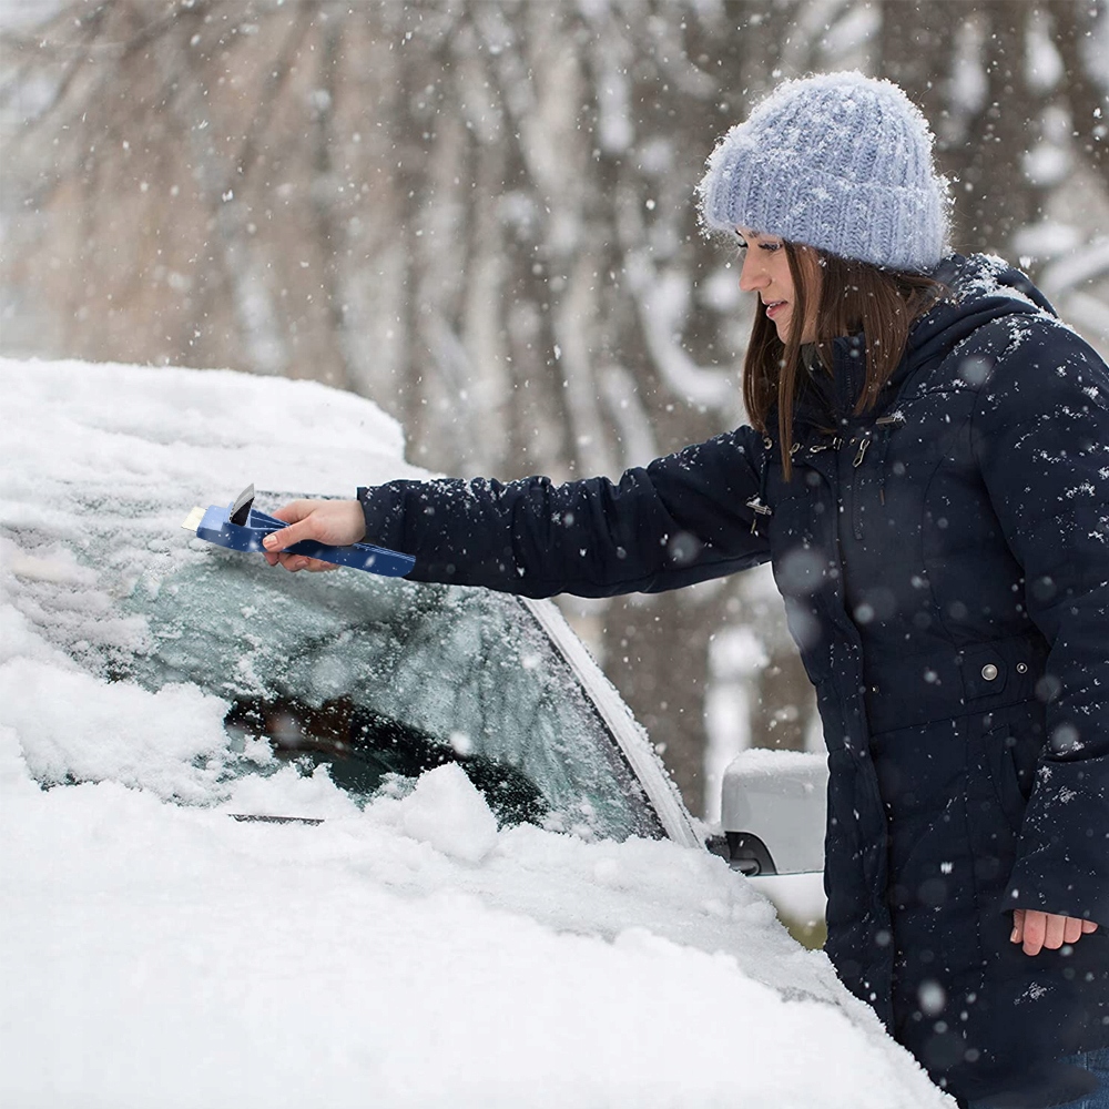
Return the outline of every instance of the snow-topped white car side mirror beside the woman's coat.
{"type": "Polygon", "coordinates": [[[802,751],[742,752],[724,771],[724,843],[710,849],[746,875],[824,869],[827,760],[802,751]]]}

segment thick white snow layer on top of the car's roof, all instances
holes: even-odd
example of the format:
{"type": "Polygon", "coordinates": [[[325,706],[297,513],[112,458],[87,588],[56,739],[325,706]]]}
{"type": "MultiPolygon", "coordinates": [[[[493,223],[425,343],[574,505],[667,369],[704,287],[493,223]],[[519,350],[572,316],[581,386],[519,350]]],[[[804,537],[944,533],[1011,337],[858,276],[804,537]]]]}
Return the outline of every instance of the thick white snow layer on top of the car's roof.
{"type": "Polygon", "coordinates": [[[353,496],[421,471],[376,405],[316,381],[0,358],[7,449],[28,480],[146,485],[166,503],[260,489],[353,496]]]}

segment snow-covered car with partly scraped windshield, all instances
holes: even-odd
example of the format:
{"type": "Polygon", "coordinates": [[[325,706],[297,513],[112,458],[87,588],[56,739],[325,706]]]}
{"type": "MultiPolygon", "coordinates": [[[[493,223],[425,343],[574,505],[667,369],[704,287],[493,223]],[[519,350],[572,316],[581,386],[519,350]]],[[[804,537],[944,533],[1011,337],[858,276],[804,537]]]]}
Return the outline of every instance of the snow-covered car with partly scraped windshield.
{"type": "Polygon", "coordinates": [[[0,1102],[950,1103],[704,849],[553,606],[181,529],[415,475],[377,408],[0,383],[0,1102]]]}

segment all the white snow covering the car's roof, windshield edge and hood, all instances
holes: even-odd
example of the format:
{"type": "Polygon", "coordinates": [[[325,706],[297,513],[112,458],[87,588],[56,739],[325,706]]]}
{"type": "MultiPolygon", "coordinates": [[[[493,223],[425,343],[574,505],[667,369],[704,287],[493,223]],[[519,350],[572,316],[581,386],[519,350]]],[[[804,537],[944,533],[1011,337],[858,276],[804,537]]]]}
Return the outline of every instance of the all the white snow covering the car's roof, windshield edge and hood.
{"type": "Polygon", "coordinates": [[[171,549],[203,557],[179,529],[193,503],[410,476],[400,433],[306,383],[13,362],[0,379],[0,522],[34,537],[0,547],[0,1101],[953,1103],[708,853],[498,831],[454,765],[365,808],[292,770],[171,800],[208,788],[224,704],[83,665],[94,641],[143,648],[112,598],[156,588],[171,549]],[[83,784],[39,784],[67,774],[83,784]]]}

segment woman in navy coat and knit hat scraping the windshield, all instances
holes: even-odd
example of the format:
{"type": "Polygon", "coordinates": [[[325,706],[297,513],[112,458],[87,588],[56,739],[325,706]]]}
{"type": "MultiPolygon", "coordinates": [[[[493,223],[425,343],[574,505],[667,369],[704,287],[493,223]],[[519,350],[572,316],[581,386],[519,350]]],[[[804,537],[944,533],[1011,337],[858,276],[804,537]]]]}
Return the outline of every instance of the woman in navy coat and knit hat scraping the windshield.
{"type": "Polygon", "coordinates": [[[1069,1102],[1109,1071],[1109,368],[1021,274],[945,254],[888,82],[782,85],[701,207],[762,305],[752,427],[614,484],[299,501],[267,558],[368,535],[413,578],[532,597],[770,559],[830,752],[840,976],[964,1103],[1069,1102]]]}

